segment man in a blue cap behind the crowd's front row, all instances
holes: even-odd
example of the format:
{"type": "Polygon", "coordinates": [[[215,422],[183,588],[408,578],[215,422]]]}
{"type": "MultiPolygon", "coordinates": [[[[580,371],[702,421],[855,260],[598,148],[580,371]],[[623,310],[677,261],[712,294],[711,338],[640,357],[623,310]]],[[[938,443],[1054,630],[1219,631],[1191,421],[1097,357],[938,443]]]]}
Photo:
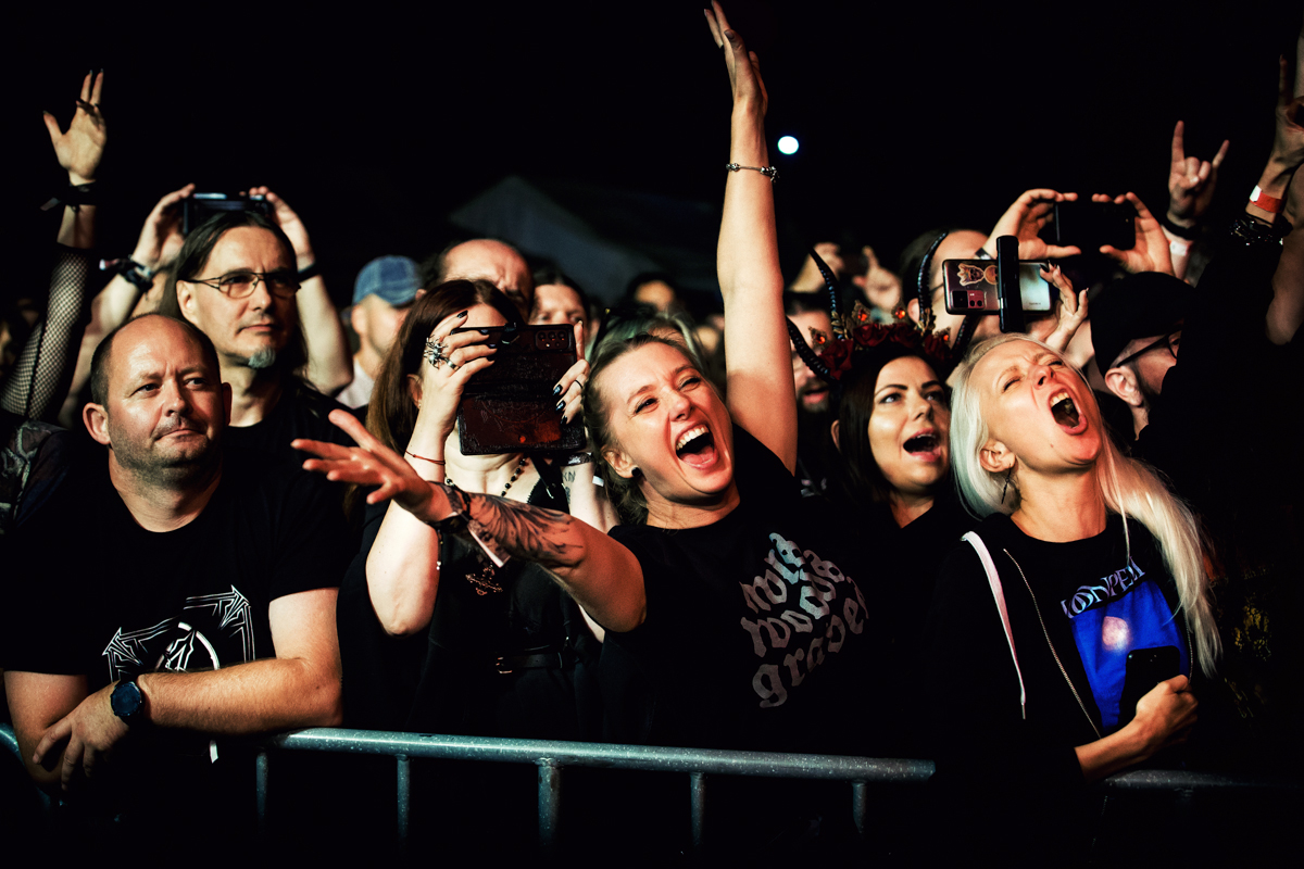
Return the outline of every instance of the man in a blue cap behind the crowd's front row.
{"type": "Polygon", "coordinates": [[[370,403],[376,375],[419,292],[417,264],[407,257],[379,257],[357,274],[348,317],[359,347],[353,353],[353,382],[335,396],[340,404],[361,408],[370,403]]]}

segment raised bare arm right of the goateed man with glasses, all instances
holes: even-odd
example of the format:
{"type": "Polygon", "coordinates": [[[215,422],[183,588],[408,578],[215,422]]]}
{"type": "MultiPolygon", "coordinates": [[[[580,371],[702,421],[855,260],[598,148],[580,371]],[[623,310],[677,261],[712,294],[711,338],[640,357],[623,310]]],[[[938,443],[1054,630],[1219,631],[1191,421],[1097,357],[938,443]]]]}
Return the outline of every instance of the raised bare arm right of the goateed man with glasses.
{"type": "MultiPolygon", "coordinates": [[[[299,271],[314,268],[317,255],[308,238],[308,229],[295,210],[267,188],[252,188],[249,195],[267,197],[274,208],[273,218],[295,246],[299,271]]],[[[353,380],[353,357],[348,349],[344,323],[330,300],[330,293],[326,292],[326,281],[319,272],[303,281],[295,293],[295,304],[299,306],[299,322],[304,326],[304,339],[308,341],[308,382],[326,395],[334,395],[353,380]]]]}

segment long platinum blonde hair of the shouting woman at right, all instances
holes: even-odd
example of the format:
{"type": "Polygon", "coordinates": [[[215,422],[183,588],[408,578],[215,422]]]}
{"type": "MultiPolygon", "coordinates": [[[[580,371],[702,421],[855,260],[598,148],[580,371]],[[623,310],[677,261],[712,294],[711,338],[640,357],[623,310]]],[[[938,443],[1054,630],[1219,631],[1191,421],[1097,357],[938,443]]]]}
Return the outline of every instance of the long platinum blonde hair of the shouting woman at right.
{"type": "MultiPolygon", "coordinates": [[[[955,391],[951,397],[951,465],[965,506],[981,517],[992,513],[1009,515],[1018,509],[1021,502],[1017,472],[1007,492],[1005,474],[988,472],[978,461],[979,452],[991,433],[987,420],[982,416],[978,390],[969,382],[979,360],[994,348],[1009,341],[1030,341],[1064,360],[1056,350],[1026,335],[1001,335],[970,348],[956,369],[955,391]],[[1009,498],[1011,494],[1013,498],[1009,498]]],[[[1067,361],[1065,365],[1082,379],[1082,383],[1086,383],[1081,371],[1067,361]]],[[[1095,396],[1090,390],[1086,390],[1086,395],[1091,396],[1089,399],[1091,406],[1082,408],[1082,412],[1099,423],[1101,410],[1095,404],[1095,396]]],[[[1129,516],[1141,522],[1159,545],[1164,564],[1178,584],[1178,598],[1181,610],[1185,611],[1187,624],[1194,634],[1200,668],[1205,675],[1213,675],[1222,642],[1209,606],[1209,577],[1205,572],[1196,517],[1168,491],[1149,465],[1120,453],[1103,431],[1095,479],[1104,506],[1123,519],[1128,556],[1132,554],[1132,539],[1127,532],[1129,516]]]]}

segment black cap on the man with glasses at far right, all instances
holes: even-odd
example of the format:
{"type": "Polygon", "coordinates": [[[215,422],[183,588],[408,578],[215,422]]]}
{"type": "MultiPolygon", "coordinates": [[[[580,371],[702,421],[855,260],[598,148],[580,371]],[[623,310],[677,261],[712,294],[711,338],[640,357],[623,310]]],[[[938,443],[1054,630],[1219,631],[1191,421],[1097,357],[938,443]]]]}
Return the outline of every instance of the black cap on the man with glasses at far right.
{"type": "Polygon", "coordinates": [[[1088,314],[1101,377],[1129,341],[1171,332],[1187,315],[1191,292],[1181,280],[1158,271],[1128,275],[1101,291],[1088,314]]]}

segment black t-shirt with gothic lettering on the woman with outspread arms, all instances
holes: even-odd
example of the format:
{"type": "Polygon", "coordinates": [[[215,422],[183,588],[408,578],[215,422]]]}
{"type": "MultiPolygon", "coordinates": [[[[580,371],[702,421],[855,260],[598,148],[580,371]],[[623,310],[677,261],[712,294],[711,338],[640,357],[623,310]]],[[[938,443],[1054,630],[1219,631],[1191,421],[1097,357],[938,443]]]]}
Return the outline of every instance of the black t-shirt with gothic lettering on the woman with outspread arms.
{"type": "Polygon", "coordinates": [[[724,519],[612,529],[643,568],[647,619],[606,642],[649,684],[648,741],[853,750],[867,616],[857,568],[818,499],[738,426],[734,455],[741,503],[724,519]]]}

